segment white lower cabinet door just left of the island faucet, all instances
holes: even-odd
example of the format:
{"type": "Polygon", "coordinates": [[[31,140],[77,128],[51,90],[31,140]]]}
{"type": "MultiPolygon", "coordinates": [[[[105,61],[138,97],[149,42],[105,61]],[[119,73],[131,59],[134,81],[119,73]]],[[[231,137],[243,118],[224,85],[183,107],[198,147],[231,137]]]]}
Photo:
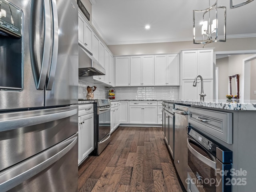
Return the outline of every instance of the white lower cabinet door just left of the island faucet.
{"type": "Polygon", "coordinates": [[[194,80],[182,80],[182,99],[198,99],[198,86],[193,86],[194,80]]]}

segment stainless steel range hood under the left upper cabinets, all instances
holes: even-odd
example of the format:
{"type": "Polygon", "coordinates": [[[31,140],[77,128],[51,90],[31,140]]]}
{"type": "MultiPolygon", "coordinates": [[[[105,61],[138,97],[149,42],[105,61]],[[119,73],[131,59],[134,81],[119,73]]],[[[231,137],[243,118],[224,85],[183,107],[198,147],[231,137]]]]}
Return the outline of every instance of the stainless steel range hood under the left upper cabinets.
{"type": "Polygon", "coordinates": [[[82,46],[78,46],[78,76],[105,75],[106,70],[82,46]]]}

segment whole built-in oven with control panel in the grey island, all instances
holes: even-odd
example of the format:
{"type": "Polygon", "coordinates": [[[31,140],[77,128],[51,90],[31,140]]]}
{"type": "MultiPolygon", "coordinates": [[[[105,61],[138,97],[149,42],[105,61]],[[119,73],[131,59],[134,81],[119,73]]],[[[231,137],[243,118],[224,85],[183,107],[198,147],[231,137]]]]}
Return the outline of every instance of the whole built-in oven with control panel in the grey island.
{"type": "Polygon", "coordinates": [[[232,151],[188,128],[188,191],[231,192],[232,151]]]}

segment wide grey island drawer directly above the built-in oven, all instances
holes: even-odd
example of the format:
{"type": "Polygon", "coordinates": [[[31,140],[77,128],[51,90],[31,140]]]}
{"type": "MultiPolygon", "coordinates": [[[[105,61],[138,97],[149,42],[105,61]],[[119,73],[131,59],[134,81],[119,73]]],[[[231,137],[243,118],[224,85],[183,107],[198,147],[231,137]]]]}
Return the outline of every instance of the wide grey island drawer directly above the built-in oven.
{"type": "Polygon", "coordinates": [[[232,144],[232,113],[189,108],[188,123],[201,131],[232,144]]]}

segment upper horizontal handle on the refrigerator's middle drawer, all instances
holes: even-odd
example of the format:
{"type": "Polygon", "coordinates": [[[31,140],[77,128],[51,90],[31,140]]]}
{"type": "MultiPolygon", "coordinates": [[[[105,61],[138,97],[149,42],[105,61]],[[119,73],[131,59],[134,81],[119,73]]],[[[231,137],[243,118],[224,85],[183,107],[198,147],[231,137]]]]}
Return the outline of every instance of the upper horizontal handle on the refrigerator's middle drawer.
{"type": "Polygon", "coordinates": [[[0,121],[0,132],[8,131],[20,127],[27,127],[37,124],[43,124],[58,119],[70,117],[78,113],[78,109],[66,110],[64,112],[50,113],[38,116],[18,116],[17,118],[0,121]]]}

